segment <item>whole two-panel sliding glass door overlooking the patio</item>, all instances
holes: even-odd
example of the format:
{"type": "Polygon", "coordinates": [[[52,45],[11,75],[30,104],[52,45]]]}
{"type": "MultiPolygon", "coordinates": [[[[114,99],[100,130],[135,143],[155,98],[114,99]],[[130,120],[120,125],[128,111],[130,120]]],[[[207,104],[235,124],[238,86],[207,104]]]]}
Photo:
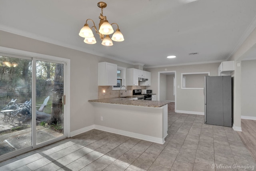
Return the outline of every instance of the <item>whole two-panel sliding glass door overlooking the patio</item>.
{"type": "Polygon", "coordinates": [[[65,63],[0,56],[0,161],[64,133],[65,63]]]}

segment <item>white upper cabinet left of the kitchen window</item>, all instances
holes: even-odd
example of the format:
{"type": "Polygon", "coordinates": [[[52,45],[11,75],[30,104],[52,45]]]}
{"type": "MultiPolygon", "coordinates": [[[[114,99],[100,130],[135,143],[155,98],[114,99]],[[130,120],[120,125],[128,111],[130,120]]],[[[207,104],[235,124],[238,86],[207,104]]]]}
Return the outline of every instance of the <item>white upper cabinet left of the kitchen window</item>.
{"type": "Polygon", "coordinates": [[[98,63],[98,85],[117,84],[117,65],[108,62],[98,63]]]}

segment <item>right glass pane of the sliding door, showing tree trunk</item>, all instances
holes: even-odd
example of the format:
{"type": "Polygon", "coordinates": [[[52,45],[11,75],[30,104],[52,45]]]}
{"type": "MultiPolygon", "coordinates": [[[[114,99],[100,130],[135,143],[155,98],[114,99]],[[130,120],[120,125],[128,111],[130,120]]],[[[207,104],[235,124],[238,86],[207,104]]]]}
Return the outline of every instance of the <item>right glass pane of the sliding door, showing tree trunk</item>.
{"type": "Polygon", "coordinates": [[[64,65],[36,61],[36,144],[63,135],[64,65]]]}

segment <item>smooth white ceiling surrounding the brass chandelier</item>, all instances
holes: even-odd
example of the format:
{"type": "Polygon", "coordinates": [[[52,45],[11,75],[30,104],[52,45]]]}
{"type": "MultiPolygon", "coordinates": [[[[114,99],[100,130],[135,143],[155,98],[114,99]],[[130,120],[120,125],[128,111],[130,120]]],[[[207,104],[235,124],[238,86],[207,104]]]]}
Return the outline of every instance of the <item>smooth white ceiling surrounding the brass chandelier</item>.
{"type": "Polygon", "coordinates": [[[98,27],[95,0],[1,0],[0,30],[151,68],[227,60],[256,27],[256,0],[104,2],[103,15],[124,35],[113,46],[101,45],[94,30],[96,44],[78,36],[88,18],[98,27]]]}

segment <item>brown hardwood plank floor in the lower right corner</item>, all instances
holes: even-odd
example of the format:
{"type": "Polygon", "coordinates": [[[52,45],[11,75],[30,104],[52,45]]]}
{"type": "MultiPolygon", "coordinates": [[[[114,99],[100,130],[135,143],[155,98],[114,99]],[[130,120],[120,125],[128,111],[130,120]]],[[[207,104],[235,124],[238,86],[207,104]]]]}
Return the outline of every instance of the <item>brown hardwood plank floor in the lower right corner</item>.
{"type": "Polygon", "coordinates": [[[256,161],[256,120],[241,119],[242,132],[237,131],[244,145],[256,161]]]}

